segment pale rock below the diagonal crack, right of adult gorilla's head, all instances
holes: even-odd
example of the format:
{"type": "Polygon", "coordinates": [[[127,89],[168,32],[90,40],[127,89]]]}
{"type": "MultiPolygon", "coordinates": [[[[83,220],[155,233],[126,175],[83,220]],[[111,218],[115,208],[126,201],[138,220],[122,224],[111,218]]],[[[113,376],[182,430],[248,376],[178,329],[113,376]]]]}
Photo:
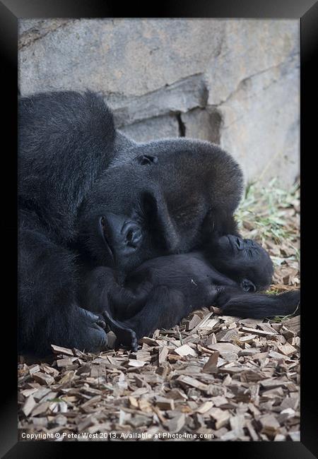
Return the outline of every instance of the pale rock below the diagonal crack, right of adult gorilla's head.
{"type": "Polygon", "coordinates": [[[299,56],[245,79],[218,109],[220,145],[237,159],[246,181],[281,188],[299,174],[299,56]]]}

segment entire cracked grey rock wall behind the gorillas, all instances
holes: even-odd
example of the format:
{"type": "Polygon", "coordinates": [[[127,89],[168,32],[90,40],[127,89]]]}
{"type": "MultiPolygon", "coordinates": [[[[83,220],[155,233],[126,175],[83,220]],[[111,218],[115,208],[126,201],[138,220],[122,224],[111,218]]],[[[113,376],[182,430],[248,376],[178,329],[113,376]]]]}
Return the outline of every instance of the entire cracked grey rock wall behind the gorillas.
{"type": "Polygon", "coordinates": [[[298,20],[20,20],[20,93],[98,91],[136,141],[212,141],[247,181],[288,187],[299,173],[299,40],[298,20]]]}

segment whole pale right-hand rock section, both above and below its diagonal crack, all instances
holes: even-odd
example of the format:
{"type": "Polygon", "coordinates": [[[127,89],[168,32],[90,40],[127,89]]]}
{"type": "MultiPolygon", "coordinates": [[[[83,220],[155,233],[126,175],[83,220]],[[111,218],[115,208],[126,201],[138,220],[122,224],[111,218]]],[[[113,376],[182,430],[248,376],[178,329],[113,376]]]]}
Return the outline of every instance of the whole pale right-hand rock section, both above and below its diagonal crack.
{"type": "Polygon", "coordinates": [[[206,70],[220,145],[246,181],[276,176],[288,188],[299,174],[299,32],[293,20],[226,21],[220,55],[206,70]]]}

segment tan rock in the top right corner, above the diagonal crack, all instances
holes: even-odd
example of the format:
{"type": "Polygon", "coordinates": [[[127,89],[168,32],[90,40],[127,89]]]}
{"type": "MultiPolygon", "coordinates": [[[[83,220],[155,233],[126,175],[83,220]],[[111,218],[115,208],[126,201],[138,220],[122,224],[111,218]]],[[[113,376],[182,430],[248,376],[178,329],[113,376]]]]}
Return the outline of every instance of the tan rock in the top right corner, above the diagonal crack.
{"type": "Polygon", "coordinates": [[[220,54],[206,66],[208,105],[220,105],[245,78],[299,52],[299,21],[226,20],[220,54]]]}

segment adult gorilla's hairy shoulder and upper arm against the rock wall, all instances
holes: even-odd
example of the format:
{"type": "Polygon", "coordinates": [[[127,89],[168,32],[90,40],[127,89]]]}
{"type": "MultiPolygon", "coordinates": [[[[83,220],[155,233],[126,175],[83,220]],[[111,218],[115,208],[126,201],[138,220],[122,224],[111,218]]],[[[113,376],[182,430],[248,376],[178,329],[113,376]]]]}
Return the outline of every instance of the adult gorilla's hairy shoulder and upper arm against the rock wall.
{"type": "Polygon", "coordinates": [[[78,209],[110,165],[117,143],[112,113],[98,95],[62,91],[21,97],[20,208],[36,210],[61,241],[72,241],[78,209]]]}

